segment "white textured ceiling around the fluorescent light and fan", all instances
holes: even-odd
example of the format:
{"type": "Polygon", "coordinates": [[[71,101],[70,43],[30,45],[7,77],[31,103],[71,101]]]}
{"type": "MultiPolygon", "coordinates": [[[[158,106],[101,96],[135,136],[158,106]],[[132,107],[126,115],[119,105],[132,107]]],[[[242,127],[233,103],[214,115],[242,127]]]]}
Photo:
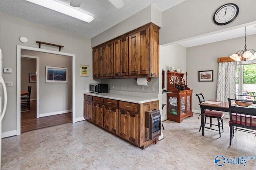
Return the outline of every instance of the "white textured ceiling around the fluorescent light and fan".
{"type": "MultiPolygon", "coordinates": [[[[69,5],[70,0],[56,0],[69,5]]],[[[0,13],[92,38],[140,10],[154,5],[161,12],[184,0],[124,0],[117,9],[108,0],[83,0],[79,9],[94,17],[90,23],[66,16],[26,0],[0,0],[0,13]]]]}

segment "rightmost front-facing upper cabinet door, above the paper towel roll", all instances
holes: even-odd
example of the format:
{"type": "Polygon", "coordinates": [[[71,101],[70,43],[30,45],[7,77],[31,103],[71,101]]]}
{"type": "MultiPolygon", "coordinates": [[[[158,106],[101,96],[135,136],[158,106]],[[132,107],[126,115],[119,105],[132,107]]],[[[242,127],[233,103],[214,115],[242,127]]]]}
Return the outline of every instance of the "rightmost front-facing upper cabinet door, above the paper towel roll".
{"type": "Polygon", "coordinates": [[[149,28],[138,33],[138,74],[148,74],[149,28]]]}

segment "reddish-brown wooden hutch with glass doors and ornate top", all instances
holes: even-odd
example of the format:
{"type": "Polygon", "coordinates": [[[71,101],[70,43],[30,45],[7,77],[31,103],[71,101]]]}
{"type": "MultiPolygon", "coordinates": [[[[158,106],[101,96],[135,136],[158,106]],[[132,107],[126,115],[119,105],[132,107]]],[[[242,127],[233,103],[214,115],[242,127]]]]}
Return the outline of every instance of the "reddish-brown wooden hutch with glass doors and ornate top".
{"type": "Polygon", "coordinates": [[[181,123],[186,117],[193,116],[192,92],[187,86],[187,72],[167,71],[167,119],[181,123]],[[186,78],[184,80],[184,78],[186,78]]]}

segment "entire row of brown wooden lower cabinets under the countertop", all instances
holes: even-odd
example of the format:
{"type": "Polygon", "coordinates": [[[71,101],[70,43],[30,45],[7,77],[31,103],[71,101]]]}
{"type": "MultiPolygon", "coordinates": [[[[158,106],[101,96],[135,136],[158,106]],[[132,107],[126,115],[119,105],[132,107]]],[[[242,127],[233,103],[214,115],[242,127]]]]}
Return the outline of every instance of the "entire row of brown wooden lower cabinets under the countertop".
{"type": "Polygon", "coordinates": [[[84,95],[84,117],[126,141],[145,149],[157,141],[145,138],[145,112],[158,109],[158,100],[135,104],[84,95]],[[91,98],[90,98],[91,97],[91,98]],[[91,100],[91,101],[90,101],[91,100]],[[91,114],[90,114],[91,113],[91,114]]]}

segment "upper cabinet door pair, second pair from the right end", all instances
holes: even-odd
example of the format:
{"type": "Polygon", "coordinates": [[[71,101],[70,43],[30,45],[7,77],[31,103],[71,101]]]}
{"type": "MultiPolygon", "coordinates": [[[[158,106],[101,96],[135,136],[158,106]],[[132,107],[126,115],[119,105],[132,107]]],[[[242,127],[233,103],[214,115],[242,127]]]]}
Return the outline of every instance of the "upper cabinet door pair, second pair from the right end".
{"type": "Polygon", "coordinates": [[[114,41],[114,76],[128,75],[128,37],[114,41]]]}

